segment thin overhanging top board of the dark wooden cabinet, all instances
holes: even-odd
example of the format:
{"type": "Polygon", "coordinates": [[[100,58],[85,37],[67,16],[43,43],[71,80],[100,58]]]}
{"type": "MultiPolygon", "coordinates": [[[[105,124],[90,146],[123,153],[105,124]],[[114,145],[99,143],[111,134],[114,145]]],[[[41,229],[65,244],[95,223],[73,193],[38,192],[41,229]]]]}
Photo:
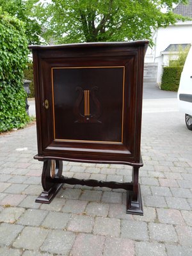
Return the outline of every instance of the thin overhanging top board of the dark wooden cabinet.
{"type": "Polygon", "coordinates": [[[138,47],[148,46],[148,40],[138,40],[133,42],[95,42],[79,44],[62,44],[62,45],[29,45],[29,49],[47,50],[47,49],[67,49],[67,48],[86,48],[86,47],[138,47]]]}

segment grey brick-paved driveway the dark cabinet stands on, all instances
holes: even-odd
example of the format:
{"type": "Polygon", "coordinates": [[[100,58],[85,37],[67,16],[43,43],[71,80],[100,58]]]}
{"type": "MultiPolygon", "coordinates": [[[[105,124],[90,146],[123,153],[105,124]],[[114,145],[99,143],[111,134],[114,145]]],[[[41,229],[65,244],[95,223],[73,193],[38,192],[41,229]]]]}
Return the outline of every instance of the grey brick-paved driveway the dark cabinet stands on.
{"type": "MultiPolygon", "coordinates": [[[[144,101],[144,216],[125,214],[120,189],[65,186],[50,205],[36,204],[35,125],[1,135],[0,255],[191,256],[192,132],[166,104],[154,109],[144,101]]],[[[131,180],[129,166],[63,163],[70,177],[131,180]]]]}

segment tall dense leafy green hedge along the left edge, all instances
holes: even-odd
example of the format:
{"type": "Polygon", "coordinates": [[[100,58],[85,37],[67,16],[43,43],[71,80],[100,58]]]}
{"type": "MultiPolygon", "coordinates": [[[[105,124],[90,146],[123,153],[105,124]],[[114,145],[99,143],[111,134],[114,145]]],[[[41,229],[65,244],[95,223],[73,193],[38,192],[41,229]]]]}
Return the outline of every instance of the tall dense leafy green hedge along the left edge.
{"type": "Polygon", "coordinates": [[[29,121],[23,87],[27,60],[23,23],[0,13],[0,132],[23,127],[29,121]]]}

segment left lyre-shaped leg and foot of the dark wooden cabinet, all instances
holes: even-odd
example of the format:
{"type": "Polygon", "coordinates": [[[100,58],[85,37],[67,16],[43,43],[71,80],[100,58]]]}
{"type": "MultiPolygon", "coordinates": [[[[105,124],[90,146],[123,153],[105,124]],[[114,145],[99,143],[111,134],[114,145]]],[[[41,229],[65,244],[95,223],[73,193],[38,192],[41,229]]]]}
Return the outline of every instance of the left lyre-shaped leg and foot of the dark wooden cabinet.
{"type": "Polygon", "coordinates": [[[42,204],[50,204],[52,199],[57,195],[63,186],[63,183],[56,184],[52,182],[54,177],[62,177],[63,162],[58,160],[44,160],[42,170],[42,187],[44,191],[35,202],[42,204]]]}

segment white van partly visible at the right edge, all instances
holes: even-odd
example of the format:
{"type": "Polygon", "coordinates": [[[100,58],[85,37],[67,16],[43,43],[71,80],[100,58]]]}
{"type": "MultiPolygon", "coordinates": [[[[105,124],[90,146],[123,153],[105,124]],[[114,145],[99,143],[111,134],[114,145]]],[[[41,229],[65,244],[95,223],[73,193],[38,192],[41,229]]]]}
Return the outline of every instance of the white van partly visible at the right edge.
{"type": "Polygon", "coordinates": [[[177,99],[179,102],[179,110],[186,114],[186,126],[192,131],[192,47],[189,49],[180,76],[177,99]]]}

